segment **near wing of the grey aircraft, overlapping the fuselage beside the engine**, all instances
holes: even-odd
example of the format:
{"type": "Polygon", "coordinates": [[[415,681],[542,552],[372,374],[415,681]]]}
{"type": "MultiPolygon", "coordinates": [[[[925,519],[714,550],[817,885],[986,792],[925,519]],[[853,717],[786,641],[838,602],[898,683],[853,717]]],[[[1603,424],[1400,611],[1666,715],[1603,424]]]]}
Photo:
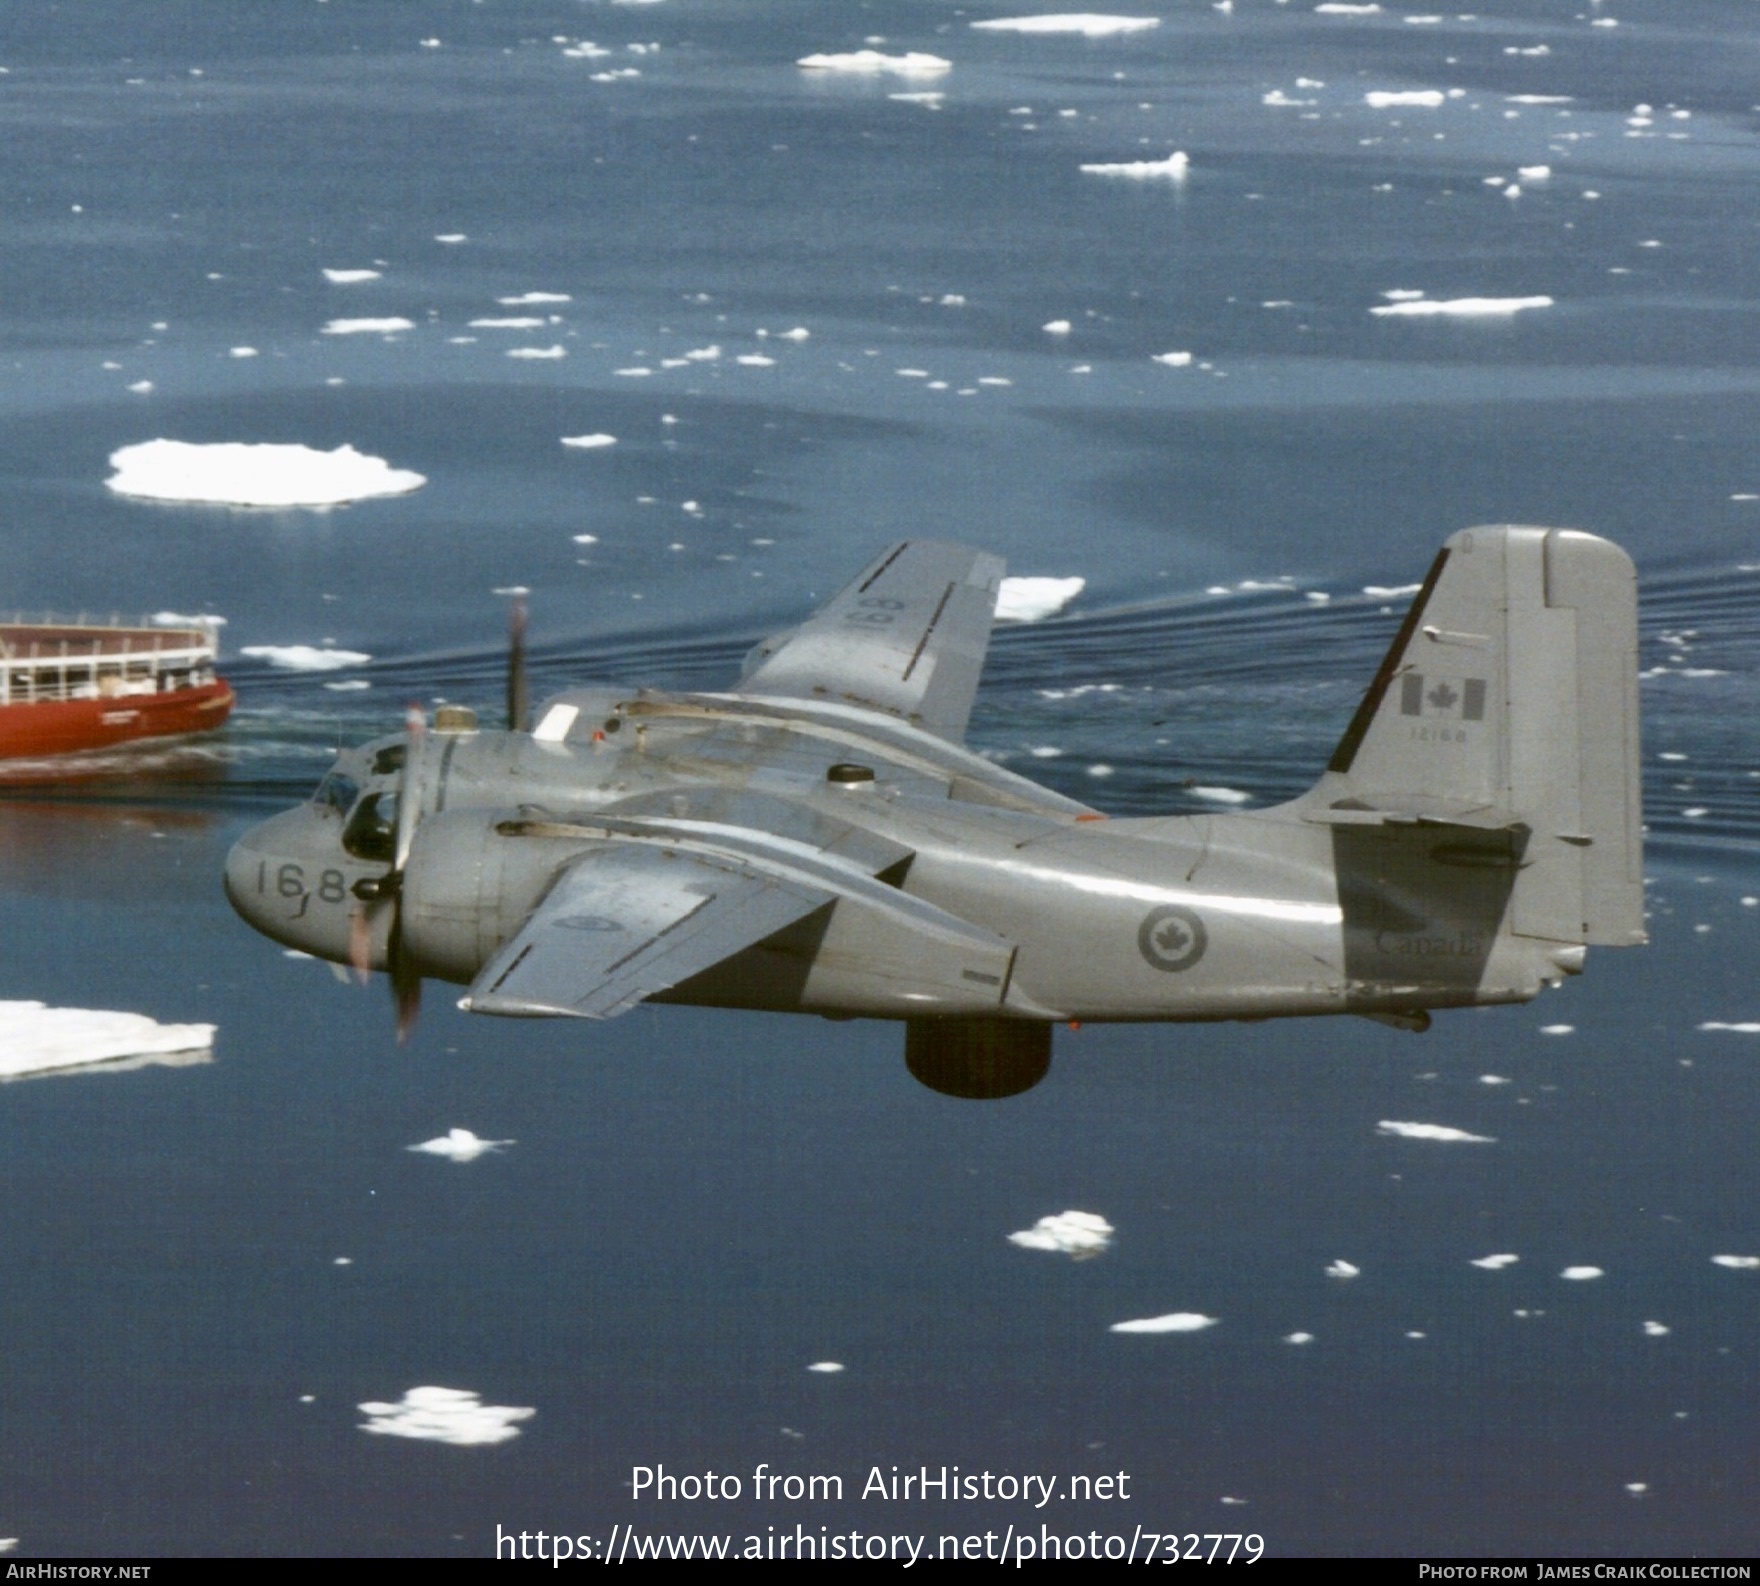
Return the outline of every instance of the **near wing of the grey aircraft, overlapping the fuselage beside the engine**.
{"type": "Polygon", "coordinates": [[[463,1007],[609,1019],[762,942],[832,896],[737,855],[595,845],[484,965],[463,1007]]]}

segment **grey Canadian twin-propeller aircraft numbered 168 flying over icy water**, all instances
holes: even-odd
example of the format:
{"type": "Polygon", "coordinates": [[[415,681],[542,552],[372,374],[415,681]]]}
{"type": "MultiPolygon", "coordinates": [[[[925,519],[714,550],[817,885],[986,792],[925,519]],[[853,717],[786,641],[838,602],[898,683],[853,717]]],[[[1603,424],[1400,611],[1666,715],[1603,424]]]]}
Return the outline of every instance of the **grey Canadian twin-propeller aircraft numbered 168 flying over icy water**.
{"type": "MultiPolygon", "coordinates": [[[[442,708],[255,827],[259,931],[479,1014],[639,1002],[899,1019],[935,1090],[1001,1097],[1058,1023],[1526,1002],[1644,942],[1632,562],[1454,535],[1325,773],[1234,815],[1109,820],[964,748],[1003,563],[892,546],[729,694],[442,708]]],[[[516,642],[516,660],[519,644],[516,642]]]]}

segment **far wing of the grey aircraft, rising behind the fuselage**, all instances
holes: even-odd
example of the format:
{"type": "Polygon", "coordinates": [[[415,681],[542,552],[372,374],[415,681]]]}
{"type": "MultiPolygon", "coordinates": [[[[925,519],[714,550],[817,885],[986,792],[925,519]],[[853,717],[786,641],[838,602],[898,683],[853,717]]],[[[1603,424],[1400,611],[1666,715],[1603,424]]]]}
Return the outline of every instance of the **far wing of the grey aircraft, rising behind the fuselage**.
{"type": "Polygon", "coordinates": [[[845,701],[959,743],[1003,567],[968,546],[903,540],[801,627],[759,644],[736,690],[845,701]]]}

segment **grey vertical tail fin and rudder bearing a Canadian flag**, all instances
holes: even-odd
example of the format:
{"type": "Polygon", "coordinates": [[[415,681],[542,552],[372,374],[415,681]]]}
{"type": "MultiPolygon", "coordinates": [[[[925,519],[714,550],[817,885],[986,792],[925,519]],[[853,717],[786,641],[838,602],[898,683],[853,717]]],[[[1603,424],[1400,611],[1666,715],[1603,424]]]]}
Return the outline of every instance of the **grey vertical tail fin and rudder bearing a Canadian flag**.
{"type": "Polygon", "coordinates": [[[1642,942],[1626,553],[1568,528],[1448,539],[1304,803],[1338,824],[1524,831],[1507,929],[1642,942]]]}

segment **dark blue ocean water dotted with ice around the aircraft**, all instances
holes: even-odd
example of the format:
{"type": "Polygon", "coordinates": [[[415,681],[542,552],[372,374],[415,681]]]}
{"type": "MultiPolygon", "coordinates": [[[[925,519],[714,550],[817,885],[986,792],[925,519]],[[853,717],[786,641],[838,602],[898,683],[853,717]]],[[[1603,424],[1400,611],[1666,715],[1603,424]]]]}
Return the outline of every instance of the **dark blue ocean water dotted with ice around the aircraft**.
{"type": "Polygon", "coordinates": [[[241,695],[216,741],[0,796],[0,1000],[218,1026],[211,1063],[0,1088],[19,1556],[632,1524],[1760,1544],[1760,1262],[1712,1260],[1760,1257],[1760,1047],[1702,1028],[1760,1021],[1751,7],[972,28],[1008,14],[5,9],[0,606],[224,614],[241,695]],[[950,65],[796,65],[862,48],[950,65]],[[1174,151],[1181,180],[1081,169],[1174,151]],[[1371,312],[1410,294],[1549,301],[1371,312]],[[408,327],[326,333],[363,319],[408,327]],[[616,444],[561,445],[588,433],[616,444]],[[428,482],[111,491],[153,438],[428,482]],[[1038,1090],[979,1105],[875,1023],[503,1023],[429,988],[398,1047],[382,986],[220,894],[338,743],[412,697],[495,708],[509,586],[542,690],[722,685],[901,535],[1079,576],[998,634],[972,743],[1188,811],[1299,792],[1385,591],[1498,521],[1617,539],[1644,598],[1653,940],[1524,1009],[1060,1032],[1038,1090]],[[370,660],[239,653],[292,644],[370,660]],[[510,1144],[405,1149],[449,1128],[510,1144]],[[1065,1209],[1111,1248],[1008,1243],[1065,1209]],[[1181,1311],[1216,1320],[1109,1331],[1181,1311]],[[363,1429],[415,1387],[533,1413],[477,1445],[363,1429]],[[841,1498],[755,1498],[760,1465],[841,1498]],[[862,1494],[956,1465],[1128,1496],[862,1494]],[[658,1466],[743,1491],[637,1493],[658,1466]]]}

